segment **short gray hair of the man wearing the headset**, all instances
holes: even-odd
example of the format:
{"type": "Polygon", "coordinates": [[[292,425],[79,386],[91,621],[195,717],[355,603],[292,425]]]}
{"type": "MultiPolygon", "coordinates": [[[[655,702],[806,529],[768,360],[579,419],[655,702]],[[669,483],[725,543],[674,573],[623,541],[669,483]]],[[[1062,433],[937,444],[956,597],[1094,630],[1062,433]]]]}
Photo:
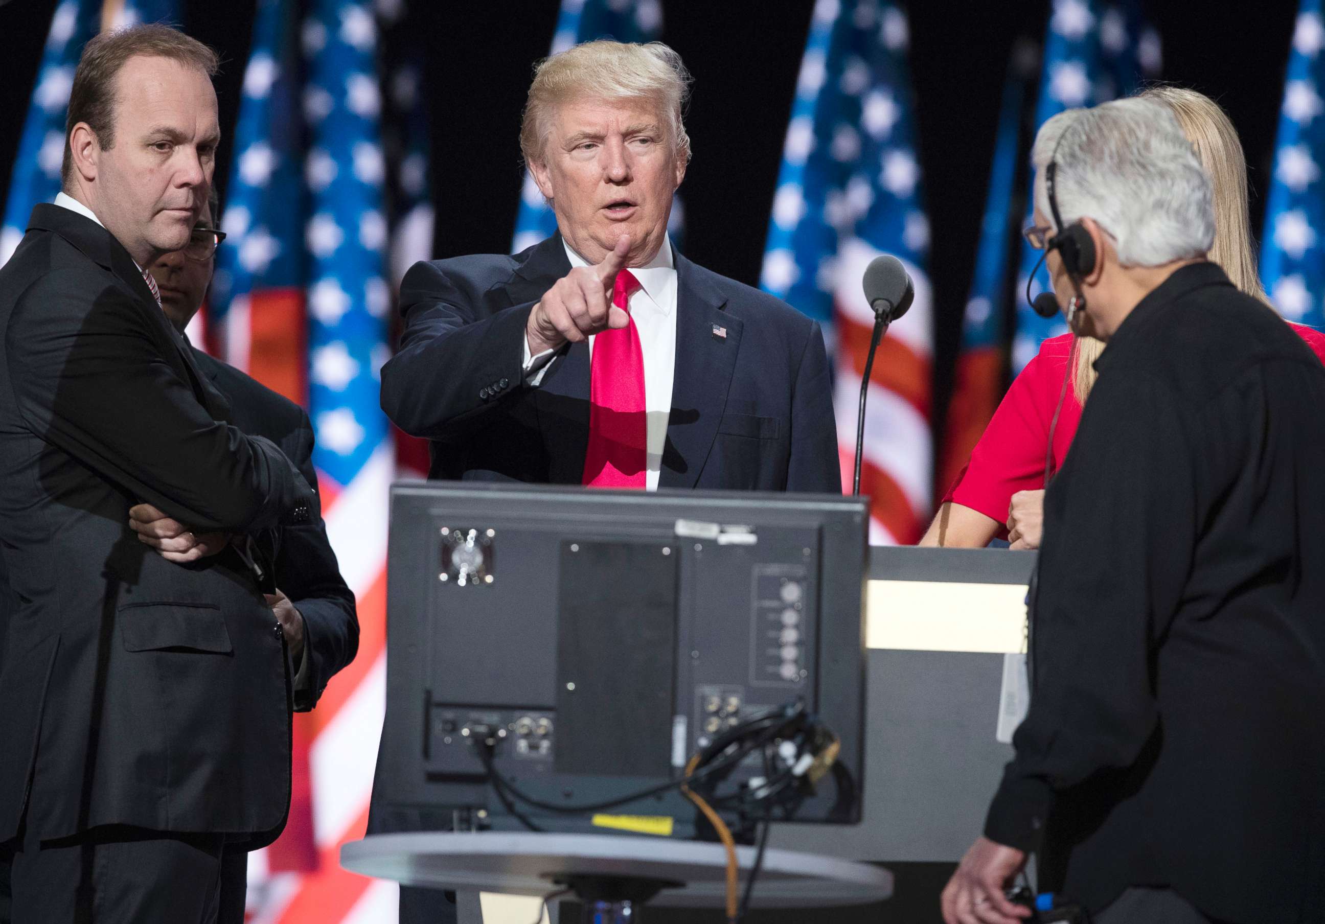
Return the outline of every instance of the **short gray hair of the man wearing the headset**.
{"type": "Polygon", "coordinates": [[[1063,221],[1093,218],[1124,266],[1203,257],[1215,240],[1210,177],[1173,111],[1151,99],[1069,109],[1035,136],[1035,205],[1053,222],[1044,168],[1063,221]]]}

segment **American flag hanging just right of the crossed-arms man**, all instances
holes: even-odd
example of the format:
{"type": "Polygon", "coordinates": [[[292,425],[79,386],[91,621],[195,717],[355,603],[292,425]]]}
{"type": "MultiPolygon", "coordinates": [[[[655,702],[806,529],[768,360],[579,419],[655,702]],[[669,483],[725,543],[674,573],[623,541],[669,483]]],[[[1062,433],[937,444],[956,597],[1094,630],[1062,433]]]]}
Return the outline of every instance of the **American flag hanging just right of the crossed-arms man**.
{"type": "Polygon", "coordinates": [[[295,716],[290,818],[249,860],[249,917],[388,920],[395,886],[344,872],[362,837],[386,695],[386,159],[367,3],[260,0],[244,73],[213,319],[223,356],[309,408],[323,516],[358,598],[359,654],[295,716]]]}

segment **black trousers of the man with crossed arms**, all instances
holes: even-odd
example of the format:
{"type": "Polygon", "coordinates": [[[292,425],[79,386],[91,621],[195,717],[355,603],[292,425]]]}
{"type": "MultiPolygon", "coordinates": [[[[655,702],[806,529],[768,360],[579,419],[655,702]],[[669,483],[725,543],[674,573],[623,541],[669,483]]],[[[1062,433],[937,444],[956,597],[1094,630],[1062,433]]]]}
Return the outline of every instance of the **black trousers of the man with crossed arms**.
{"type": "Polygon", "coordinates": [[[0,856],[0,924],[242,924],[246,867],[223,834],[117,825],[29,842],[0,856]]]}

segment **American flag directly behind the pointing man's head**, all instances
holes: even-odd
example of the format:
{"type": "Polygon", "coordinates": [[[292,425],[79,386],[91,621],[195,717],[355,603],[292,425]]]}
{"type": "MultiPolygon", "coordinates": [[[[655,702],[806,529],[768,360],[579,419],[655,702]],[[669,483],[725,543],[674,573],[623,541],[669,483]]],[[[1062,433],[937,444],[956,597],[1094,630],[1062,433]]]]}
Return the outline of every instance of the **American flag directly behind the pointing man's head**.
{"type": "MultiPolygon", "coordinates": [[[[659,37],[662,28],[662,7],[659,0],[562,0],[553,34],[551,54],[564,52],[580,42],[595,38],[615,38],[623,42],[648,42],[659,37]]],[[[681,208],[673,201],[668,230],[673,240],[680,232],[681,208]]],[[[556,216],[543,201],[534,177],[525,171],[525,184],[519,195],[519,216],[515,218],[515,237],[511,253],[538,244],[556,230],[556,216]]],[[[680,244],[677,245],[680,246],[680,244]]]]}

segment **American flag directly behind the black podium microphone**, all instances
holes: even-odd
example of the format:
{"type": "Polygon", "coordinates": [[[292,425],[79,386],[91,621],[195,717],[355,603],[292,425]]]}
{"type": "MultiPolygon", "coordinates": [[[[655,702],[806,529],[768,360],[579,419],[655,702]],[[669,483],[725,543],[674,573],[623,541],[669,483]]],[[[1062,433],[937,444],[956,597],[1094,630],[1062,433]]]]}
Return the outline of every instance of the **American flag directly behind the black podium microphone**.
{"type": "Polygon", "coordinates": [[[876,357],[865,421],[861,492],[872,498],[871,541],[913,543],[931,487],[929,222],[920,203],[909,28],[890,3],[819,0],[774,196],[761,285],[825,324],[836,352],[839,447],[851,483],[856,404],[873,312],[860,279],[880,253],[902,259],[916,285],[910,311],[876,357]]]}

